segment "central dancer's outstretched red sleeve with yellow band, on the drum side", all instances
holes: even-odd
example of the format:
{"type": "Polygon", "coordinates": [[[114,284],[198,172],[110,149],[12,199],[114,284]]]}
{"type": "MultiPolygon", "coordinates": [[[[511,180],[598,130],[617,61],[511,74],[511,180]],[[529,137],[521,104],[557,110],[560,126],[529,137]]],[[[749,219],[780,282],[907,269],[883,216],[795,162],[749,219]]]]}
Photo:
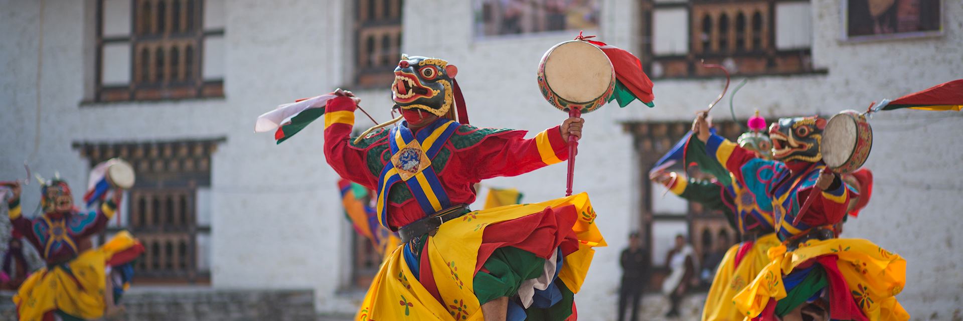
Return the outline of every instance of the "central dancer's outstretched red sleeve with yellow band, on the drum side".
{"type": "Polygon", "coordinates": [[[559,126],[555,126],[538,133],[533,139],[511,132],[492,135],[459,153],[464,155],[465,165],[475,169],[475,178],[481,180],[526,174],[560,163],[568,159],[568,145],[561,140],[559,126]]]}

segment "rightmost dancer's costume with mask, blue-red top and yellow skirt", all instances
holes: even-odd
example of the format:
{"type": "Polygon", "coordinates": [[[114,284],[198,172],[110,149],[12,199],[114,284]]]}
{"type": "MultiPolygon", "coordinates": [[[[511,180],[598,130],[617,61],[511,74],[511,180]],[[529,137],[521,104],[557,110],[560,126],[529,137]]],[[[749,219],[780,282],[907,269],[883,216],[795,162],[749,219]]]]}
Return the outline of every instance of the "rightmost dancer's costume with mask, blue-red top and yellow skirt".
{"type": "MultiPolygon", "coordinates": [[[[855,196],[836,178],[829,188],[816,188],[825,168],[819,152],[818,118],[782,119],[769,136],[774,156],[756,158],[749,150],[713,135],[706,151],[753,193],[772,200],[776,231],[783,244],[768,250],[769,263],[734,299],[747,319],[776,320],[812,303],[827,306],[839,320],[907,320],[896,295],[905,284],[906,262],[863,239],[836,238],[834,225],[846,216],[855,196]],[[800,204],[814,201],[800,223],[800,204]]],[[[818,306],[818,305],[816,305],[818,306]]]]}

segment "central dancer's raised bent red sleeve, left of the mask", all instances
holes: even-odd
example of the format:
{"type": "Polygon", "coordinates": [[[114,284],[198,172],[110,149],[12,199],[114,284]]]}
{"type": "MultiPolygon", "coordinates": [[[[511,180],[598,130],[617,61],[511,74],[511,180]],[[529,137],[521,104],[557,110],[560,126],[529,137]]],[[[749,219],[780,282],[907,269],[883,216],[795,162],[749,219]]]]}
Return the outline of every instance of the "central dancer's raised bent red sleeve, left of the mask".
{"type": "Polygon", "coordinates": [[[354,126],[354,100],[335,97],[325,106],[325,160],[341,177],[377,188],[377,177],[368,171],[368,150],[351,147],[351,128],[354,126]]]}

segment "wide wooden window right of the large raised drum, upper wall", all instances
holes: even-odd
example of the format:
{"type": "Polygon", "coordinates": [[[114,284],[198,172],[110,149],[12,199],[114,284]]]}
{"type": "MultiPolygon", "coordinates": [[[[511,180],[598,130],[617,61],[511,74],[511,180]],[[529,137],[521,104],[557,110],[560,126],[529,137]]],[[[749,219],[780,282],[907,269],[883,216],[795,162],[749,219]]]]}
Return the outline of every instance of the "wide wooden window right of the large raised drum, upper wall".
{"type": "MultiPolygon", "coordinates": [[[[804,36],[810,34],[810,30],[784,27],[782,35],[796,42],[793,46],[776,47],[774,14],[781,3],[778,0],[639,0],[639,3],[639,17],[645,21],[640,33],[646,39],[639,50],[640,59],[643,69],[653,78],[722,75],[717,69],[701,67],[701,61],[728,66],[733,74],[742,75],[814,72],[811,47],[796,43],[797,39],[809,39],[804,36]],[[688,14],[689,22],[679,22],[679,18],[649,18],[659,15],[656,13],[678,16],[680,12],[688,14]],[[655,26],[656,23],[660,26],[655,26]],[[673,32],[685,29],[687,23],[688,31],[673,32]],[[660,35],[655,35],[654,30],[661,30],[660,35]],[[654,48],[653,43],[671,43],[665,39],[686,39],[690,49],[669,52],[665,48],[654,48]]],[[[805,1],[798,3],[808,6],[805,1]]]]}

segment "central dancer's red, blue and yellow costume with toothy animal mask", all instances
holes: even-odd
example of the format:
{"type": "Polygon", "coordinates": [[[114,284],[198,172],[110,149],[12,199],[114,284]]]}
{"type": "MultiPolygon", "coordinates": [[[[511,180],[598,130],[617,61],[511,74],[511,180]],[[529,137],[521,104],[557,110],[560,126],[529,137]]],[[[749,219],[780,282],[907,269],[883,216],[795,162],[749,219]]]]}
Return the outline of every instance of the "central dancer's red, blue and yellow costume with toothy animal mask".
{"type": "MultiPolygon", "coordinates": [[[[395,73],[411,80],[396,78],[396,102],[423,95],[450,106],[446,70],[452,69],[442,60],[403,57],[395,73]]],[[[448,110],[422,107],[414,108],[438,116],[448,110]]],[[[389,250],[358,320],[481,320],[481,305],[499,297],[512,298],[509,319],[518,313],[534,320],[574,315],[573,294],[585,279],[591,248],[605,245],[585,194],[481,211],[462,206],[475,201],[474,186],[482,179],[566,159],[559,127],[525,139],[525,131],[441,117],[416,129],[402,122],[351,143],[354,109],[350,97],[326,102],[325,158],[342,177],[377,191],[379,223],[398,230],[455,213],[389,250]]]]}

